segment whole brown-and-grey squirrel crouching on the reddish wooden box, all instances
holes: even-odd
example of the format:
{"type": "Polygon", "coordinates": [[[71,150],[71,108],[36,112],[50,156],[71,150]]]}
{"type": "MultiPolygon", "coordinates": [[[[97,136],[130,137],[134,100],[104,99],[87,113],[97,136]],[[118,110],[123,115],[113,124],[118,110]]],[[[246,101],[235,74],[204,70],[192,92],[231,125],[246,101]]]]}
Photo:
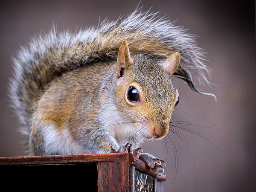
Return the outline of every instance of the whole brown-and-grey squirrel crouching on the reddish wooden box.
{"type": "Polygon", "coordinates": [[[169,131],[179,102],[172,76],[192,90],[209,83],[195,36],[158,13],[134,11],[98,27],[33,38],[13,57],[10,95],[26,127],[28,155],[141,151],[143,140],[169,131]],[[120,21],[120,22],[119,22],[120,21]]]}

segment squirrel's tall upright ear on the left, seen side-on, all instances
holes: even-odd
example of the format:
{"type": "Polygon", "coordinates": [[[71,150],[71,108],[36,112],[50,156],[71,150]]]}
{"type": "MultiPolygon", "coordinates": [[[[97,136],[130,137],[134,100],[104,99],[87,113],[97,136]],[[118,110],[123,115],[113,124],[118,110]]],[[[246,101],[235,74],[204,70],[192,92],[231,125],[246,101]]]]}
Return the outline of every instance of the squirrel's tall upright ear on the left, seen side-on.
{"type": "Polygon", "coordinates": [[[125,68],[131,64],[131,56],[127,41],[123,41],[117,55],[116,78],[123,76],[125,68]]]}

